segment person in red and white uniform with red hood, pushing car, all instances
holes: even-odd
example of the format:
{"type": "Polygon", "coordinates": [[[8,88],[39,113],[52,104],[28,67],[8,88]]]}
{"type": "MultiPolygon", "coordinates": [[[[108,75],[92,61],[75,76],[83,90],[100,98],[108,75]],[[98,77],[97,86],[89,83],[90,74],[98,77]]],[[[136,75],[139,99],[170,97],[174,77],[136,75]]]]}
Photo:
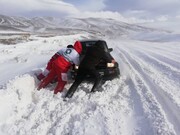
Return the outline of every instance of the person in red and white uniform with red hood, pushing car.
{"type": "MultiPolygon", "coordinates": [[[[54,89],[54,94],[61,92],[67,83],[67,71],[72,64],[79,65],[79,55],[82,51],[82,45],[76,41],[73,46],[68,46],[59,50],[48,62],[47,68],[49,73],[38,85],[38,90],[46,87],[55,77],[58,78],[58,84],[54,89]]],[[[46,69],[47,69],[46,68],[46,69]]]]}

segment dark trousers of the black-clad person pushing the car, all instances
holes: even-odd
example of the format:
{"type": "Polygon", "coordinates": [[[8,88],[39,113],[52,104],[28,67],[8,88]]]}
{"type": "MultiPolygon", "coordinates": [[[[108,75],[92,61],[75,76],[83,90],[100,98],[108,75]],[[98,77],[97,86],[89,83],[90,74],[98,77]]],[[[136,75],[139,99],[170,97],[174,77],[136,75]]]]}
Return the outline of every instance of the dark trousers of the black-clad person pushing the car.
{"type": "Polygon", "coordinates": [[[99,85],[101,84],[101,75],[96,71],[95,68],[80,68],[78,70],[76,79],[74,81],[74,83],[71,85],[70,89],[68,90],[68,92],[65,95],[65,98],[71,98],[74,94],[74,92],[76,91],[76,89],[78,88],[78,86],[81,84],[81,82],[86,78],[87,75],[92,75],[94,78],[94,85],[91,89],[91,92],[95,92],[96,88],[99,87],[99,85]]]}

